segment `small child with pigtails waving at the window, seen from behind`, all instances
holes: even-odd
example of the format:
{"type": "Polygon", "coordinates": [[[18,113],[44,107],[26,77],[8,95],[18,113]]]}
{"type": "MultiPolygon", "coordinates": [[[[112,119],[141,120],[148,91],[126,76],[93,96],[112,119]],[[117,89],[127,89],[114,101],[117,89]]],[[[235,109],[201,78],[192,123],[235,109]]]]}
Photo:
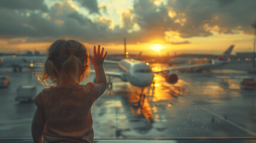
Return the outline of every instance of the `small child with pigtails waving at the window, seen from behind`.
{"type": "Polygon", "coordinates": [[[55,86],[43,89],[33,98],[37,108],[32,120],[34,142],[94,142],[91,106],[106,90],[103,67],[107,52],[94,46],[94,57],[75,40],[57,40],[48,49],[48,58],[39,82],[50,79],[55,86]],[[87,76],[89,59],[94,66],[96,84],[79,85],[87,76]]]}

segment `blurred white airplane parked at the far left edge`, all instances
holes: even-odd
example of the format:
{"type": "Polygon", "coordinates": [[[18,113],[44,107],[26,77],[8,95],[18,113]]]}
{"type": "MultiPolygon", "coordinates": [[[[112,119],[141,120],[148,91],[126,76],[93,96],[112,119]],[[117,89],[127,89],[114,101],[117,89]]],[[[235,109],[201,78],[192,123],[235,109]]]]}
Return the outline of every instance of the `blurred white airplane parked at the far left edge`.
{"type": "Polygon", "coordinates": [[[0,67],[13,67],[14,71],[22,70],[22,68],[34,68],[39,67],[35,64],[38,62],[44,63],[46,60],[45,56],[7,56],[0,57],[0,67]]]}

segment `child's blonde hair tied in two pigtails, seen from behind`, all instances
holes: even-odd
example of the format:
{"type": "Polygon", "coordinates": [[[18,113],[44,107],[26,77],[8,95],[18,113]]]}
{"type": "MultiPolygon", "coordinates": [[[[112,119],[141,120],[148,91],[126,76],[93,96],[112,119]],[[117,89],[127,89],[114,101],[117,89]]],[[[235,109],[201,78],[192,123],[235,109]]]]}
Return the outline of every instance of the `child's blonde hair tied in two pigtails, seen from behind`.
{"type": "Polygon", "coordinates": [[[47,57],[36,75],[43,85],[48,85],[46,79],[54,84],[63,79],[80,83],[89,74],[89,52],[79,41],[58,39],[48,49],[47,57]]]}

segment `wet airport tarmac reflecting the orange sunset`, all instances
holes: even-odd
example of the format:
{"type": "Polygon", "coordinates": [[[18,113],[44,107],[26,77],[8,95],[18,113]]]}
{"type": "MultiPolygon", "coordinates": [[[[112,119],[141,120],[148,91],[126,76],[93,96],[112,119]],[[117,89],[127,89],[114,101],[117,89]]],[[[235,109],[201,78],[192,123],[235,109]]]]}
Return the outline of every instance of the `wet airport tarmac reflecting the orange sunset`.
{"type": "MultiPolygon", "coordinates": [[[[161,66],[154,64],[153,66],[161,66]]],[[[230,64],[205,73],[177,73],[170,85],[155,74],[155,85],[144,90],[118,78],[92,107],[95,139],[114,138],[233,138],[256,137],[256,92],[239,87],[248,74],[248,64],[230,64]],[[140,102],[141,101],[141,102],[140,102]]],[[[105,70],[118,71],[113,64],[105,70]]],[[[20,85],[35,85],[39,93],[45,86],[30,71],[14,73],[8,88],[0,88],[0,139],[31,139],[30,123],[36,106],[15,101],[20,85]]],[[[92,81],[91,75],[84,83],[92,81]]]]}

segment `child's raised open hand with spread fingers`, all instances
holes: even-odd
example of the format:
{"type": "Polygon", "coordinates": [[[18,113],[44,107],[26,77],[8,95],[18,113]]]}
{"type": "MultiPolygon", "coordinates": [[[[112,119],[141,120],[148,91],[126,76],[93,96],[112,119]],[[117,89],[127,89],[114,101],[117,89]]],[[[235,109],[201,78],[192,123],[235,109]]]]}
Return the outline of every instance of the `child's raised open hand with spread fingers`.
{"type": "Polygon", "coordinates": [[[100,52],[100,45],[98,45],[98,51],[96,51],[96,46],[94,46],[93,50],[93,57],[90,55],[90,61],[93,64],[93,66],[102,66],[104,63],[104,60],[107,56],[107,52],[103,55],[104,47],[101,49],[100,52]]]}

